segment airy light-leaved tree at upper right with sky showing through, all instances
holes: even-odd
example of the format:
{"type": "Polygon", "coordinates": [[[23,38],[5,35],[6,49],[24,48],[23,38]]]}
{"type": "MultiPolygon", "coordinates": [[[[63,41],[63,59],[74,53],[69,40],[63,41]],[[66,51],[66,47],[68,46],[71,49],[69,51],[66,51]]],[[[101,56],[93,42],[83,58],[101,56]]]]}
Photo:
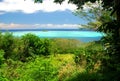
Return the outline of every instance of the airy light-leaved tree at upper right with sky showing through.
{"type": "Polygon", "coordinates": [[[82,9],[77,9],[74,14],[84,20],[87,20],[87,24],[83,24],[84,28],[98,29],[104,22],[108,22],[113,19],[110,17],[110,11],[103,10],[101,1],[95,3],[87,2],[83,5],[82,9]],[[87,9],[86,9],[87,7],[87,9]]]}

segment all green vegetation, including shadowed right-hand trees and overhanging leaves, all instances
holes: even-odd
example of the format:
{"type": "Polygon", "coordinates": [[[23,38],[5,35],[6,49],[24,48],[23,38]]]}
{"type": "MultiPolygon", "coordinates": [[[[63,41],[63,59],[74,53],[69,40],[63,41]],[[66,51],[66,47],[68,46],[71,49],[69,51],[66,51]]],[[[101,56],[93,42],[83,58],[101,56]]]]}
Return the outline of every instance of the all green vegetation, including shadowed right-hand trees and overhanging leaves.
{"type": "MultiPolygon", "coordinates": [[[[61,4],[64,0],[54,1],[61,4]]],[[[69,0],[69,3],[80,9],[89,1],[100,0],[69,0]]],[[[119,0],[102,0],[100,11],[90,11],[101,12],[95,22],[88,24],[106,34],[99,42],[82,44],[76,40],[40,39],[32,34],[20,38],[0,34],[0,80],[119,81],[119,4],[119,0]]]]}

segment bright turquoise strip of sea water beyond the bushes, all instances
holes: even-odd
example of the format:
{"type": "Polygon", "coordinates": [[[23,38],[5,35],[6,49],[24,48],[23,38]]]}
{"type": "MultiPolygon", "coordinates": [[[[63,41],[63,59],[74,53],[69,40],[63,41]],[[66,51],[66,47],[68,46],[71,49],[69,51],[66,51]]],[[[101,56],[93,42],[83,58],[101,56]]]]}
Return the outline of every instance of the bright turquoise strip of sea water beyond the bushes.
{"type": "Polygon", "coordinates": [[[23,36],[27,33],[32,33],[38,37],[41,38],[68,38],[68,39],[77,39],[82,42],[90,42],[90,41],[96,41],[100,40],[101,37],[103,36],[103,33],[100,32],[95,32],[95,31],[66,31],[66,30],[61,30],[61,31],[41,31],[41,30],[17,30],[17,31],[9,31],[12,32],[14,36],[20,37],[23,36]]]}

